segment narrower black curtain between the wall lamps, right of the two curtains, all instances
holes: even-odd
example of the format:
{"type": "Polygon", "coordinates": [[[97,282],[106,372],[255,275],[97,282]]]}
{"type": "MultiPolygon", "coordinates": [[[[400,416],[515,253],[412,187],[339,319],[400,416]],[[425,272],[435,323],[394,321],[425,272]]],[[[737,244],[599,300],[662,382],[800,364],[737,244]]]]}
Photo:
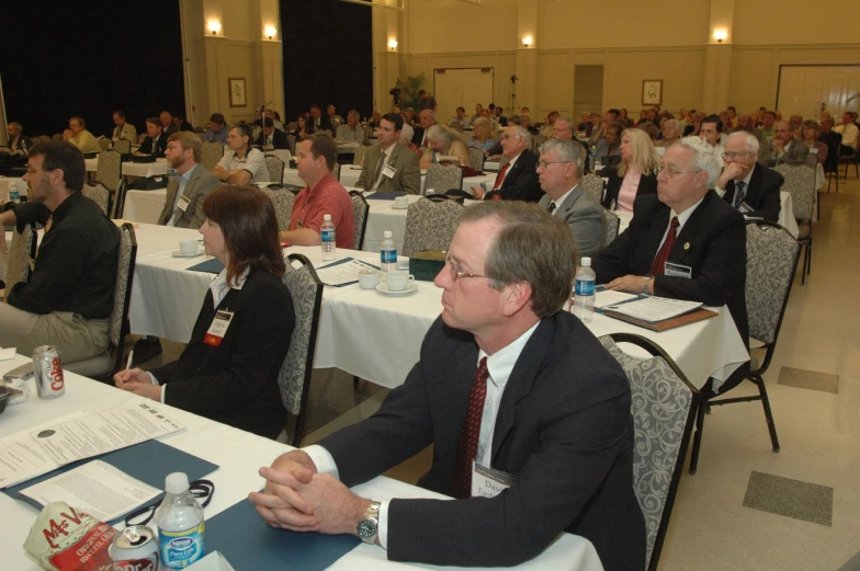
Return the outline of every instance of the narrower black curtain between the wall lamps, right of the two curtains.
{"type": "Polygon", "coordinates": [[[316,103],[373,113],[372,9],[337,0],[281,0],[284,123],[316,103]]]}

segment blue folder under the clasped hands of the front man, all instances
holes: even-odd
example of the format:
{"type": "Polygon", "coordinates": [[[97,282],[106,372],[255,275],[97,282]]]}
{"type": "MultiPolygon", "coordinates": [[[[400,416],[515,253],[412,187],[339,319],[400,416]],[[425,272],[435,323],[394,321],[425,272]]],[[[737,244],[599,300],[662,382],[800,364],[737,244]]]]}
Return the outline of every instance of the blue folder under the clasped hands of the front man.
{"type": "Polygon", "coordinates": [[[263,522],[242,500],[206,521],[206,551],[220,551],[236,571],[321,571],[361,541],[351,535],[298,534],[263,522]]]}

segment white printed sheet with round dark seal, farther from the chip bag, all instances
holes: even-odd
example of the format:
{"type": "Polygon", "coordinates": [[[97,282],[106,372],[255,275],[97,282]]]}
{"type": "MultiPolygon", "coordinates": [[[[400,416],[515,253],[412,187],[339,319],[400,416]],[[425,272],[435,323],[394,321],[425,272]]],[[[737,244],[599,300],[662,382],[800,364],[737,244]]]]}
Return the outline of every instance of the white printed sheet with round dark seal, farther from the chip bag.
{"type": "Polygon", "coordinates": [[[184,429],[156,403],[137,402],[115,410],[30,431],[54,462],[64,466],[184,429]]]}

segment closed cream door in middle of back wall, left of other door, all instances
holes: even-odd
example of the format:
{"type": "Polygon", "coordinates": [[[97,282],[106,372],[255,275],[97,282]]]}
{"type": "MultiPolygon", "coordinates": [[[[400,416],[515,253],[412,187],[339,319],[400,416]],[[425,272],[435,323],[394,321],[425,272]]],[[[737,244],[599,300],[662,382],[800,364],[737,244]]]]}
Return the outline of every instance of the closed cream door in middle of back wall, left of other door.
{"type": "Polygon", "coordinates": [[[435,69],[433,96],[439,104],[437,121],[445,125],[464,107],[466,117],[475,114],[475,103],[484,109],[493,101],[493,68],[435,69]]]}

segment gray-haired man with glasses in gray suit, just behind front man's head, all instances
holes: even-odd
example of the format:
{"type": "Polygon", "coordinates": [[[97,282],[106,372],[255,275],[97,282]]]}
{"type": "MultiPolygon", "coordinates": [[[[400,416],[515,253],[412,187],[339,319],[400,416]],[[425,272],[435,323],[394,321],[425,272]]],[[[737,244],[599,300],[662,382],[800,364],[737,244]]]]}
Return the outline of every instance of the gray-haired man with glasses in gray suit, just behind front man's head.
{"type": "Polygon", "coordinates": [[[578,142],[548,139],[541,146],[538,180],[546,193],[538,205],[570,227],[577,253],[595,256],[607,245],[603,208],[579,185],[585,152],[578,142]]]}

